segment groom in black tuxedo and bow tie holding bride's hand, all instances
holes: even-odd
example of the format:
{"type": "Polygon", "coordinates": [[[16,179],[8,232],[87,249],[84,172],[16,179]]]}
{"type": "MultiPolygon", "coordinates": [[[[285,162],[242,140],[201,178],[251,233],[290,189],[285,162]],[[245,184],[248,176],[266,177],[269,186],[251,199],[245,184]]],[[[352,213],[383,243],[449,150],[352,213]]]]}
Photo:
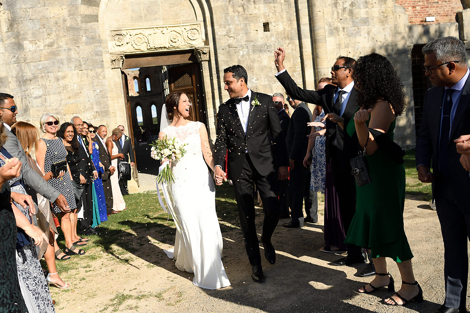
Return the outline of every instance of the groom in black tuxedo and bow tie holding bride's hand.
{"type": "Polygon", "coordinates": [[[222,184],[222,179],[227,180],[222,166],[228,150],[228,179],[233,181],[235,189],[246,253],[252,269],[251,278],[262,282],[264,275],[255,227],[253,183],[258,188],[265,214],[261,242],[266,260],[274,264],[276,254],[271,236],[280,213],[277,179],[285,180],[289,176],[289,159],[273,98],[251,91],[247,80],[248,74],[241,65],[224,69],[225,90],[230,99],[219,107],[217,114],[214,173],[218,185],[222,184]],[[278,173],[274,169],[277,167],[278,173]]]}

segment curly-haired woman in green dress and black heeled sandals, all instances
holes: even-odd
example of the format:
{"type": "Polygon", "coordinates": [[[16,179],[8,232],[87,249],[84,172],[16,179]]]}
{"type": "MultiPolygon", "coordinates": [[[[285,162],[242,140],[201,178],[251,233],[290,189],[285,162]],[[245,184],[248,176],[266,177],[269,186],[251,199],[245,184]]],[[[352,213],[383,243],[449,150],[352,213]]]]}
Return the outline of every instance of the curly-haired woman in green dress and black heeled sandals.
{"type": "Polygon", "coordinates": [[[393,278],[387,272],[385,261],[388,257],[397,263],[402,284],[385,303],[404,305],[411,299],[422,301],[423,290],[413,274],[413,254],[403,228],[403,154],[393,142],[395,118],[406,107],[403,84],[392,63],[377,53],[360,57],[352,76],[359,91],[360,109],[345,126],[351,142],[356,143],[356,155],[358,149],[362,151],[365,147],[372,183],[356,185],[356,213],[345,243],[370,249],[376,267],[374,280],[359,292],[370,293],[382,287],[394,291],[393,278]]]}

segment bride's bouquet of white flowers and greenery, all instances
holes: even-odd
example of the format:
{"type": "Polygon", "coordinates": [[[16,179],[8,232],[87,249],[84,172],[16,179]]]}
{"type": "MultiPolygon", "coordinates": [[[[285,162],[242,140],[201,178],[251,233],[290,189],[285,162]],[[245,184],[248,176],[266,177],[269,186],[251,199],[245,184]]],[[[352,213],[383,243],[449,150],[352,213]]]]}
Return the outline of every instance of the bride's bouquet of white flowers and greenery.
{"type": "Polygon", "coordinates": [[[175,137],[169,138],[165,136],[163,139],[158,139],[150,144],[150,156],[154,160],[164,160],[166,166],[160,170],[157,176],[158,183],[174,183],[175,176],[170,168],[170,161],[179,160],[186,153],[184,148],[187,144],[181,144],[175,137]]]}

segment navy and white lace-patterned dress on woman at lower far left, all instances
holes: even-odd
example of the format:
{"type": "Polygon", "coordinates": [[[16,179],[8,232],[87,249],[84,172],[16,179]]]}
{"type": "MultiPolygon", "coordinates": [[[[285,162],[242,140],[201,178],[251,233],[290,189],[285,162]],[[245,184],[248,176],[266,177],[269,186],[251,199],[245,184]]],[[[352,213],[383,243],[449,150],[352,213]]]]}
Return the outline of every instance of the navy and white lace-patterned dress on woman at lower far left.
{"type": "MultiPolygon", "coordinates": [[[[5,159],[9,156],[0,153],[5,159]]],[[[0,158],[1,166],[5,165],[5,160],[0,158]]],[[[8,181],[12,192],[18,192],[26,195],[26,190],[21,184],[23,180],[23,173],[19,177],[15,177],[8,181]]],[[[31,223],[31,216],[29,215],[29,207],[25,209],[23,206],[16,204],[24,216],[31,223]]],[[[34,246],[33,240],[27,238],[31,243],[23,247],[16,247],[16,268],[18,272],[18,280],[20,283],[21,294],[23,295],[24,302],[28,308],[29,313],[54,313],[54,305],[52,298],[47,287],[46,278],[42,272],[41,265],[38,260],[38,252],[34,246]]]]}

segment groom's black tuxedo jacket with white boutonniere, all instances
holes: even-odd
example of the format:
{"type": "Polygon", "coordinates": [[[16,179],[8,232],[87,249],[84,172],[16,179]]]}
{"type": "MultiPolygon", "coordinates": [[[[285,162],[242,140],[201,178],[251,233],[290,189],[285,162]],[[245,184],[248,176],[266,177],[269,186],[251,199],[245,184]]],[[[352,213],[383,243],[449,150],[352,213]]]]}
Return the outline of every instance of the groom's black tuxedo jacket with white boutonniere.
{"type": "Polygon", "coordinates": [[[250,105],[246,134],[238,117],[234,99],[229,99],[220,105],[217,113],[214,165],[220,165],[223,168],[228,150],[228,178],[232,180],[238,179],[242,174],[246,150],[253,165],[262,176],[271,173],[274,167],[289,166],[285,139],[273,98],[264,93],[251,91],[250,103],[253,103],[255,97],[259,105],[250,105]],[[269,133],[273,145],[271,145],[269,133]],[[274,154],[278,163],[275,165],[274,154]]]}

